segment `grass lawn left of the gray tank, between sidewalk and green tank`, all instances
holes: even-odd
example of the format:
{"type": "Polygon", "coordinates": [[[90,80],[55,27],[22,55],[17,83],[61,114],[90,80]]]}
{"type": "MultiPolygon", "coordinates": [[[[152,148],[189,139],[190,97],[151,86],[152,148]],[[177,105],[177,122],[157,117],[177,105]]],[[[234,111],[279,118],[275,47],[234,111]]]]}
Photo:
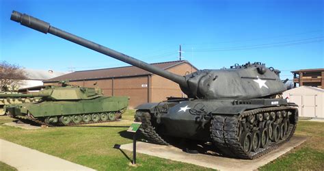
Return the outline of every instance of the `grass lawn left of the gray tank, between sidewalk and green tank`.
{"type": "MultiPolygon", "coordinates": [[[[133,122],[133,115],[134,111],[128,110],[123,114],[121,122],[36,130],[3,125],[2,123],[10,122],[12,119],[0,116],[0,138],[96,170],[208,170],[193,164],[139,153],[137,153],[139,166],[136,168],[129,166],[131,161],[113,146],[133,142],[133,135],[126,132],[133,122]]],[[[130,158],[133,154],[129,151],[124,153],[130,158]]]]}

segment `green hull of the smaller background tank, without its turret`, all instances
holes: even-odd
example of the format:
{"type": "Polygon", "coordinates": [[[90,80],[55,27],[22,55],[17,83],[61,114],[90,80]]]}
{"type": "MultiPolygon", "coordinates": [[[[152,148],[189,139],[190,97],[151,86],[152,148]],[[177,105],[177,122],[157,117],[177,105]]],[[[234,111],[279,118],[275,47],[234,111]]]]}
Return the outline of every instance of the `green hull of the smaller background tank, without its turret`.
{"type": "MultiPolygon", "coordinates": [[[[105,112],[113,112],[121,115],[128,104],[128,96],[100,96],[98,98],[80,101],[39,101],[6,105],[5,111],[12,118],[29,117],[46,122],[46,118],[60,118],[62,116],[83,116],[85,114],[92,115],[105,112]]],[[[72,119],[71,122],[73,122],[72,119]]],[[[47,124],[59,124],[59,120],[57,122],[48,122],[47,124]]]]}

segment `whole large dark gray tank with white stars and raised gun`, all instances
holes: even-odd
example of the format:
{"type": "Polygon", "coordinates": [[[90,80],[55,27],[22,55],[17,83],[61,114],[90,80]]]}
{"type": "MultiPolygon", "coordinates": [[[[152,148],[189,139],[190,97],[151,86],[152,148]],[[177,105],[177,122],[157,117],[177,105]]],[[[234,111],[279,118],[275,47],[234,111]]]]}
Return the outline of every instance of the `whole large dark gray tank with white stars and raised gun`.
{"type": "Polygon", "coordinates": [[[143,123],[141,133],[150,142],[168,145],[172,137],[212,142],[226,156],[254,159],[284,144],[295,132],[297,105],[282,98],[286,87],[280,71],[260,62],[180,76],[32,16],[13,12],[11,19],[178,83],[187,98],[137,107],[135,121],[143,123]]]}

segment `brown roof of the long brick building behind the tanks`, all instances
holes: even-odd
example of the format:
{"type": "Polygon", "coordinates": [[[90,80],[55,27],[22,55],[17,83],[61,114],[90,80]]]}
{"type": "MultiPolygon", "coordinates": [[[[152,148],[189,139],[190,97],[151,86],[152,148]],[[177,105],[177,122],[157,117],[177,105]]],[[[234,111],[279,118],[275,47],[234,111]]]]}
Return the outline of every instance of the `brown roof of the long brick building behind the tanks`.
{"type": "MultiPolygon", "coordinates": [[[[154,63],[152,65],[166,70],[184,63],[191,65],[186,60],[154,63]]],[[[193,66],[193,68],[195,68],[195,66],[193,66]]],[[[198,70],[197,68],[195,69],[198,70]]],[[[80,80],[89,80],[89,79],[108,79],[108,78],[116,78],[116,77],[135,77],[135,76],[151,75],[151,74],[152,73],[146,70],[142,70],[141,68],[137,68],[136,66],[122,66],[116,68],[104,68],[104,69],[97,69],[97,70],[80,70],[59,77],[55,77],[52,79],[48,79],[43,82],[50,83],[50,82],[57,82],[62,80],[80,81],[80,80]]]]}

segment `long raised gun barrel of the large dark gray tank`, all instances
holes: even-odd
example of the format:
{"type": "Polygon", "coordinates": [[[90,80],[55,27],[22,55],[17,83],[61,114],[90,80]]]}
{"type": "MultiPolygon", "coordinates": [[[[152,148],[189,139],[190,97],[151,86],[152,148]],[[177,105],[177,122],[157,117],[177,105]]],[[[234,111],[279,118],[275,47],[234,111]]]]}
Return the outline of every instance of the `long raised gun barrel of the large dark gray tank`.
{"type": "Polygon", "coordinates": [[[44,34],[47,34],[47,33],[53,34],[60,38],[69,40],[70,42],[75,42],[76,44],[79,44],[83,47],[87,47],[94,51],[98,51],[99,53],[103,53],[105,55],[113,57],[116,60],[126,62],[127,64],[137,66],[138,68],[141,68],[144,70],[148,70],[150,73],[160,75],[161,77],[165,77],[166,79],[170,79],[170,80],[180,84],[180,86],[187,87],[186,79],[183,76],[176,75],[174,73],[170,73],[166,70],[163,70],[156,66],[147,64],[146,62],[142,62],[142,61],[137,60],[133,57],[130,57],[129,55],[124,55],[123,53],[119,53],[118,51],[114,51],[113,49],[109,49],[109,48],[104,47],[100,44],[96,44],[94,42],[91,42],[91,41],[81,38],[79,36],[75,36],[73,34],[66,32],[66,31],[57,29],[57,28],[51,26],[49,23],[39,20],[38,18],[33,18],[32,16],[29,16],[27,14],[21,14],[19,12],[13,11],[10,19],[12,21],[16,21],[17,23],[21,23],[21,25],[25,25],[26,27],[29,27],[31,29],[36,29],[37,31],[40,31],[44,34]]]}

